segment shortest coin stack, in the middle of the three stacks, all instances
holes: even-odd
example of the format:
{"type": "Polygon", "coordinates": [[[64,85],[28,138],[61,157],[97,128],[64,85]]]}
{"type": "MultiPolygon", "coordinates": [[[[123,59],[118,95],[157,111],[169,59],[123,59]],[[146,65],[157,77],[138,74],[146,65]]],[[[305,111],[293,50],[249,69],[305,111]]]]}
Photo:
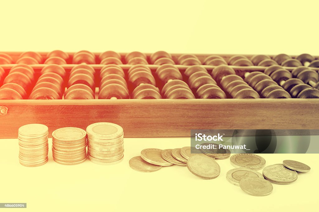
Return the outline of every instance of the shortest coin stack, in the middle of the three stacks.
{"type": "Polygon", "coordinates": [[[64,127],[52,132],[52,156],[63,165],[76,165],[86,160],[86,132],[64,127]]]}

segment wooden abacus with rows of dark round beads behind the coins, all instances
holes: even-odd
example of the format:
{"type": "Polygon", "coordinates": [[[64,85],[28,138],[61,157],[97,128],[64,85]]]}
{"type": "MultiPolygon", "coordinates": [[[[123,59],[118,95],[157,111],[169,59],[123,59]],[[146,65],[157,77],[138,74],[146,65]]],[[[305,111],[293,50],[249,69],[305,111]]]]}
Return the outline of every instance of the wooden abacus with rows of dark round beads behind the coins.
{"type": "Polygon", "coordinates": [[[125,137],[191,129],[316,129],[318,56],[0,53],[0,138],[41,123],[121,125],[125,137]]]}

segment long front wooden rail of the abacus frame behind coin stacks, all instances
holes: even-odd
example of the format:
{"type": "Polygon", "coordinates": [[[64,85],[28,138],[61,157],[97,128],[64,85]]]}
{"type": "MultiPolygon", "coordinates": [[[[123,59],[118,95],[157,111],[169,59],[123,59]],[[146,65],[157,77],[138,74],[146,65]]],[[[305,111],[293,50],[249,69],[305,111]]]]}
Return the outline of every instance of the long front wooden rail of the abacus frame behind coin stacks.
{"type": "Polygon", "coordinates": [[[24,124],[52,131],[112,122],[125,137],[190,136],[191,129],[318,129],[317,99],[0,100],[0,138],[24,124]]]}

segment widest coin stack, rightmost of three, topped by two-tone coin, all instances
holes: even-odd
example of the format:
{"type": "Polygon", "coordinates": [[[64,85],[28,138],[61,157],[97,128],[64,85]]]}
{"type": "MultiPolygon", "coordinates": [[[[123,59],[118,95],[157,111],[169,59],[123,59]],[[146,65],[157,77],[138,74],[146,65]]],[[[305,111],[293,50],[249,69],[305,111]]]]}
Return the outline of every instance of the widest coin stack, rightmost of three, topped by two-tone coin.
{"type": "Polygon", "coordinates": [[[93,163],[111,165],[124,157],[123,128],[117,124],[100,122],[86,128],[87,157],[93,163]]]}

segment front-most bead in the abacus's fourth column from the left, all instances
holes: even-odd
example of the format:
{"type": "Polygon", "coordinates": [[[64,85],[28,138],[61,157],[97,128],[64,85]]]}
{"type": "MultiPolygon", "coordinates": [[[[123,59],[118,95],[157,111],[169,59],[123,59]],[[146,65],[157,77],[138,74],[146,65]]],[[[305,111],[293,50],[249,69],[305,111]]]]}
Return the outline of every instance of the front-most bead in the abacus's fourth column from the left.
{"type": "Polygon", "coordinates": [[[126,88],[119,84],[109,84],[102,88],[99,92],[99,99],[129,99],[129,93],[126,88]]]}

